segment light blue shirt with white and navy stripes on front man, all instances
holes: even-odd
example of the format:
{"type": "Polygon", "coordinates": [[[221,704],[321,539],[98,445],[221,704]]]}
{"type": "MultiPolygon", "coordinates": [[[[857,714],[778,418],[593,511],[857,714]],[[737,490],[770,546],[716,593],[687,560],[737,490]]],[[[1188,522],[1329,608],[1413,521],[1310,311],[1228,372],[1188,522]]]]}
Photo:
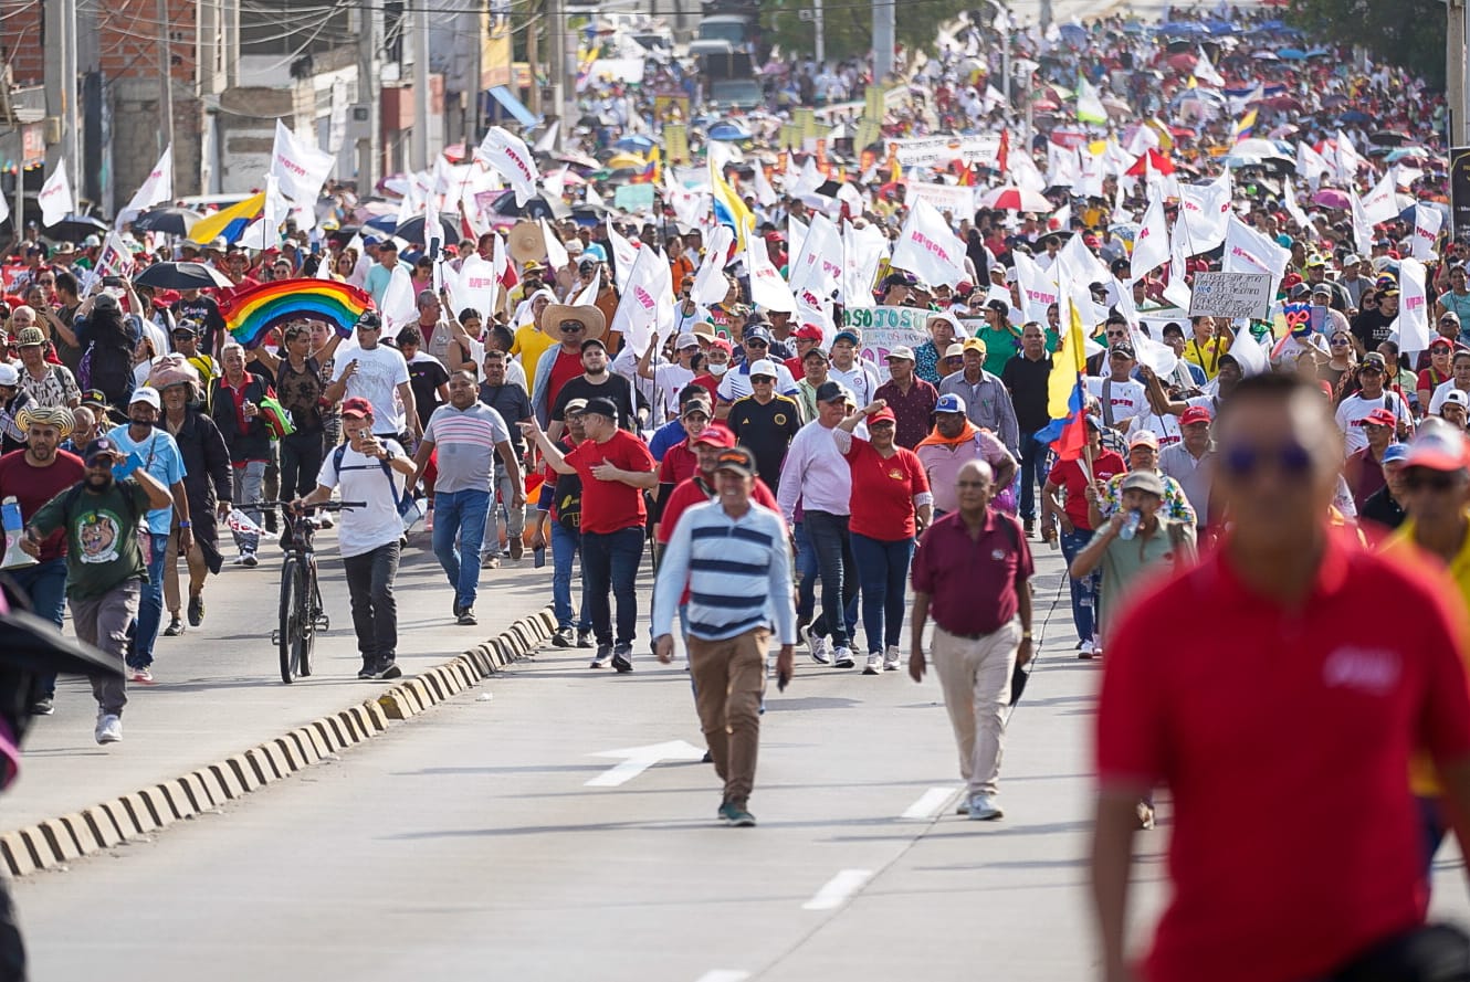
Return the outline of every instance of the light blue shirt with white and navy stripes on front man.
{"type": "Polygon", "coordinates": [[[770,509],[751,501],[732,519],[710,501],[679,517],[653,591],[656,638],[672,632],[685,588],[695,638],[723,641],[773,625],[781,644],[797,642],[786,526],[770,509]]]}

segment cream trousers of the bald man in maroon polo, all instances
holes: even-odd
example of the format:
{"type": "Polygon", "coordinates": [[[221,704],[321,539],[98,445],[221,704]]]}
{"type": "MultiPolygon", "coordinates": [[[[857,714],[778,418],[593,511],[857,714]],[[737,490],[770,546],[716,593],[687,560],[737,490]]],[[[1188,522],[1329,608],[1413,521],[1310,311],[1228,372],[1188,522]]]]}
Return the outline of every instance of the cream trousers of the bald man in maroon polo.
{"type": "Polygon", "coordinates": [[[1010,701],[1019,647],[1019,617],[973,641],[938,625],[933,629],[933,670],[944,688],[944,706],[960,750],[960,775],[970,797],[995,794],[1005,750],[1003,712],[1010,701]]]}

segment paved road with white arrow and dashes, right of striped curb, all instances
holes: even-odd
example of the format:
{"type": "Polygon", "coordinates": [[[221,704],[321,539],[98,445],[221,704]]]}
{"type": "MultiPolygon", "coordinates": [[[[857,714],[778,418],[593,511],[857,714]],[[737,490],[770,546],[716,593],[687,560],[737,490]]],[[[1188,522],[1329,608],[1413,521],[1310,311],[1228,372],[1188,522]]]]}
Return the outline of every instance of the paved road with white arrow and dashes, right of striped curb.
{"type": "MultiPolygon", "coordinates": [[[[1045,610],[1060,563],[1041,560],[1045,610]]],[[[1055,617],[1013,717],[1003,822],[950,814],[932,679],[803,659],[764,717],[760,826],[726,829],[707,766],[612,785],[619,759],[598,756],[700,742],[682,670],[547,651],[222,814],[19,882],[35,978],[1088,978],[1100,667],[1055,617]]],[[[1145,923],[1163,819],[1141,845],[1145,923]]],[[[1441,903],[1470,919],[1442,866],[1441,903]]]]}

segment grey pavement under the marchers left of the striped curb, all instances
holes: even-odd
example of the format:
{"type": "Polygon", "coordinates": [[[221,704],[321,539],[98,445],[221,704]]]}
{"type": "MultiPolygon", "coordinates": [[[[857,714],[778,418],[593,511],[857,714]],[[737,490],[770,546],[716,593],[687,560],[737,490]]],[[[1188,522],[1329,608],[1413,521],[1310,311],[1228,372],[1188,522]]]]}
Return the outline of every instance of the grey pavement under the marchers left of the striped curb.
{"type": "MultiPolygon", "coordinates": [[[[398,567],[398,664],[404,678],[454,659],[551,600],[551,567],[532,569],[528,550],[519,563],[501,560],[501,569],[481,570],[479,625],[460,628],[450,612],[448,581],[428,545],[429,535],[420,526],[398,567]]],[[[178,638],[159,638],[157,684],[129,684],[121,744],[98,747],[93,739],[97,704],[88,682],[74,676],[59,681],[56,714],[37,719],[26,736],[21,778],[0,806],[0,831],[176,778],[387,688],[356,678],[362,662],[335,531],[318,535],[318,550],[332,625],[316,639],[310,678],[284,685],[270,644],[279,550],[263,548],[256,569],[226,565],[204,588],[204,623],[178,638]]]]}

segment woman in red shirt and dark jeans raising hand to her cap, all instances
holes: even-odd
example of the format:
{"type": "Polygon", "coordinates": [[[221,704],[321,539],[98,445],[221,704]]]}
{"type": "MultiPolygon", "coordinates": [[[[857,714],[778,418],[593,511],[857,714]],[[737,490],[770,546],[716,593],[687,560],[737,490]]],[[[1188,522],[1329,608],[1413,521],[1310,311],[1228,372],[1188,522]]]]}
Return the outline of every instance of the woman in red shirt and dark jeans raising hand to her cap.
{"type": "Polygon", "coordinates": [[[894,442],[895,431],[894,410],[883,400],[864,406],[832,431],[853,472],[848,531],[863,588],[863,634],[867,635],[863,675],[898,670],[908,560],[916,537],[933,517],[929,476],[914,451],[894,442]],[[869,440],[853,435],[864,419],[869,440]]]}

